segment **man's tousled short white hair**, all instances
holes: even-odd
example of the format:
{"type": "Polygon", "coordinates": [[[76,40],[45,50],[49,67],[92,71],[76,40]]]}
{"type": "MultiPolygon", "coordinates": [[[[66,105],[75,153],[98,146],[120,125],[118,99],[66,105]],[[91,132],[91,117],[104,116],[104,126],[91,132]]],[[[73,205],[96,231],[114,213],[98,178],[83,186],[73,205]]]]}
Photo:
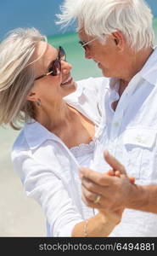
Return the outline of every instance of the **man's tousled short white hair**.
{"type": "Polygon", "coordinates": [[[121,31],[132,49],[154,46],[153,15],[143,0],[64,0],[57,24],[77,20],[77,30],[98,37],[121,31]]]}

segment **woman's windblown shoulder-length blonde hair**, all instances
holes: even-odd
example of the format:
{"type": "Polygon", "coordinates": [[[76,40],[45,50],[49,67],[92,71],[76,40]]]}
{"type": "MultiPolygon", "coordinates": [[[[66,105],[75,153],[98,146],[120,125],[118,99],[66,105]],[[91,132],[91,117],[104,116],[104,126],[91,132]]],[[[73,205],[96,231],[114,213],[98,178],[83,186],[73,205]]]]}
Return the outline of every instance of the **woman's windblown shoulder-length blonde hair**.
{"type": "Polygon", "coordinates": [[[35,28],[18,28],[0,44],[0,125],[20,129],[19,122],[34,118],[33,104],[26,97],[34,84],[31,64],[36,44],[47,41],[35,28]]]}

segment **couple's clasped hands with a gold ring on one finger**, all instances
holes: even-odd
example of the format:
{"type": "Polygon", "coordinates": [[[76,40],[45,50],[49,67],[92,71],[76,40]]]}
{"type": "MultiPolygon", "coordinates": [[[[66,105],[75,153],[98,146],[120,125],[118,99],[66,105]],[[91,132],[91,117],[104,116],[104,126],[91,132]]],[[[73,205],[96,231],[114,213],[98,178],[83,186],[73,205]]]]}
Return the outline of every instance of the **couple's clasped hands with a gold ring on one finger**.
{"type": "Polygon", "coordinates": [[[112,168],[109,172],[99,173],[87,167],[80,168],[82,200],[88,207],[97,208],[118,224],[135,179],[126,175],[124,166],[107,150],[104,159],[112,168]]]}

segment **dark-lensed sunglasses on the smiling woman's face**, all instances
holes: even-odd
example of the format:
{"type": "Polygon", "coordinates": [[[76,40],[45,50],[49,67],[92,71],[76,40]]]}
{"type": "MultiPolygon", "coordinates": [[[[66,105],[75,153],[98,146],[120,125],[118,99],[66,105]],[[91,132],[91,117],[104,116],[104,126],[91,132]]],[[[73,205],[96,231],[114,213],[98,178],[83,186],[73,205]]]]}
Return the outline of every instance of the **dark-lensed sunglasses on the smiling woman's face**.
{"type": "Polygon", "coordinates": [[[56,60],[52,61],[50,67],[48,68],[48,73],[43,73],[41,76],[37,77],[35,80],[42,79],[46,76],[57,76],[61,72],[61,63],[60,61],[66,61],[66,55],[64,49],[59,46],[59,54],[56,60]]]}

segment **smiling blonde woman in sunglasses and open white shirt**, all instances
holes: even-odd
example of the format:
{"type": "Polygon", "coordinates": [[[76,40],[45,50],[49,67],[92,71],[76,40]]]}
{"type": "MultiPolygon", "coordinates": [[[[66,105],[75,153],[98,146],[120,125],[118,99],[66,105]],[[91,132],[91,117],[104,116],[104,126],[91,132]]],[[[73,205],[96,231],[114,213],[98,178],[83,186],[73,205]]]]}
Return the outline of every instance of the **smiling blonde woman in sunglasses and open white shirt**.
{"type": "Polygon", "coordinates": [[[101,130],[102,79],[76,85],[64,49],[45,39],[35,28],[19,28],[0,45],[0,125],[19,129],[25,122],[12,151],[14,169],[42,206],[48,236],[109,236],[123,208],[87,207],[78,173],[89,165],[101,130]]]}

